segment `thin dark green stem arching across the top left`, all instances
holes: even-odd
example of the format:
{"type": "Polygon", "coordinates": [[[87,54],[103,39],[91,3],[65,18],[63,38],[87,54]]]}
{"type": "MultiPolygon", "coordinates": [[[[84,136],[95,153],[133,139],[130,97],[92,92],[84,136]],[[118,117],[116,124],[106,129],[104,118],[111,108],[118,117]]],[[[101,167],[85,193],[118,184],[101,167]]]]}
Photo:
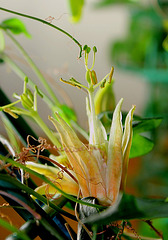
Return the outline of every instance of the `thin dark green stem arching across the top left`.
{"type": "Polygon", "coordinates": [[[16,15],[21,16],[21,17],[30,18],[32,20],[41,22],[43,24],[46,24],[46,25],[48,25],[48,26],[50,26],[52,28],[55,28],[56,30],[62,32],[63,34],[65,34],[66,36],[71,38],[72,41],[74,41],[78,45],[78,47],[80,48],[79,58],[82,57],[82,45],[71,34],[66,32],[65,30],[63,30],[63,29],[61,29],[61,28],[59,28],[59,27],[57,27],[57,26],[55,26],[55,25],[53,25],[53,24],[51,24],[51,23],[49,23],[49,22],[47,22],[47,21],[45,21],[43,19],[37,18],[37,17],[33,17],[33,16],[30,16],[30,15],[27,15],[27,14],[23,14],[23,13],[18,13],[18,12],[15,12],[15,11],[12,11],[12,10],[9,10],[9,9],[6,9],[6,8],[1,8],[1,7],[0,7],[0,10],[5,11],[5,12],[9,12],[9,13],[12,13],[12,14],[16,14],[16,15]]]}

